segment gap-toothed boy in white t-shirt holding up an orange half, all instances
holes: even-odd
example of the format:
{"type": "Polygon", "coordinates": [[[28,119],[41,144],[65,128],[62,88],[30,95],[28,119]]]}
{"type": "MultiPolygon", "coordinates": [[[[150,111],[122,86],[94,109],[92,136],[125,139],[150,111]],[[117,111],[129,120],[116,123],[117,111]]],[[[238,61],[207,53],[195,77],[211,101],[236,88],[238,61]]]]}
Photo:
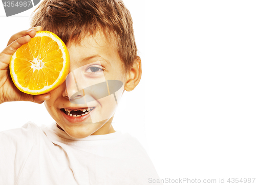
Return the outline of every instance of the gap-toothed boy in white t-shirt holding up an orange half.
{"type": "Polygon", "coordinates": [[[158,179],[139,142],[111,124],[122,93],[132,91],[141,78],[132,18],[123,3],[47,0],[34,12],[31,26],[13,35],[0,53],[0,103],[45,102],[56,123],[50,127],[27,123],[0,133],[0,184],[141,185],[149,178],[158,179]],[[41,30],[66,43],[70,73],[57,89],[28,95],[13,85],[9,61],[41,30]],[[113,94],[100,97],[98,84],[110,81],[122,86],[115,84],[113,94]],[[94,85],[96,90],[79,91],[94,85]]]}

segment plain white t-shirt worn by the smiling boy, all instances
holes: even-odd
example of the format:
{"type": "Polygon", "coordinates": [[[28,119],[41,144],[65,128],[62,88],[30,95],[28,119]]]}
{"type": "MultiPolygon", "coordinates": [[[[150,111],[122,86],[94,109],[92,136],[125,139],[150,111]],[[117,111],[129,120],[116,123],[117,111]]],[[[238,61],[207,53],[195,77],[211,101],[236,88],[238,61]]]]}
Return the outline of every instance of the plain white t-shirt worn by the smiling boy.
{"type": "Polygon", "coordinates": [[[152,184],[157,172],[137,139],[120,131],[74,139],[56,123],[0,133],[0,184],[152,184]]]}

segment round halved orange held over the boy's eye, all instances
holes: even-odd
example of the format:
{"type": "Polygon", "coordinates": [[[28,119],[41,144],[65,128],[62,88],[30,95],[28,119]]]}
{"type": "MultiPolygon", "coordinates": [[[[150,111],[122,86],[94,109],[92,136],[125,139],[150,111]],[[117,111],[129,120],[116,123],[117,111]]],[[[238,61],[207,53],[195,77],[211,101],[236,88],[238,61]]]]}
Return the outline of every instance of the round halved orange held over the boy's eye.
{"type": "Polygon", "coordinates": [[[69,73],[65,43],[54,33],[39,31],[12,55],[10,73],[15,86],[27,94],[44,94],[59,87],[69,73]]]}

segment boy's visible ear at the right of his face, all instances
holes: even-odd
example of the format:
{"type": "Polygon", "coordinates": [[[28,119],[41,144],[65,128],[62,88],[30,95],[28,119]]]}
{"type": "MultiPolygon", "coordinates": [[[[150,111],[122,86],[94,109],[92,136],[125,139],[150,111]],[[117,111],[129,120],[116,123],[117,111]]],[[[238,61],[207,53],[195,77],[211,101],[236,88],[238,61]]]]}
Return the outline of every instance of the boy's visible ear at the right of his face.
{"type": "Polygon", "coordinates": [[[132,91],[139,84],[141,78],[141,59],[136,57],[133,66],[129,73],[126,75],[126,83],[124,86],[125,91],[132,91]]]}

